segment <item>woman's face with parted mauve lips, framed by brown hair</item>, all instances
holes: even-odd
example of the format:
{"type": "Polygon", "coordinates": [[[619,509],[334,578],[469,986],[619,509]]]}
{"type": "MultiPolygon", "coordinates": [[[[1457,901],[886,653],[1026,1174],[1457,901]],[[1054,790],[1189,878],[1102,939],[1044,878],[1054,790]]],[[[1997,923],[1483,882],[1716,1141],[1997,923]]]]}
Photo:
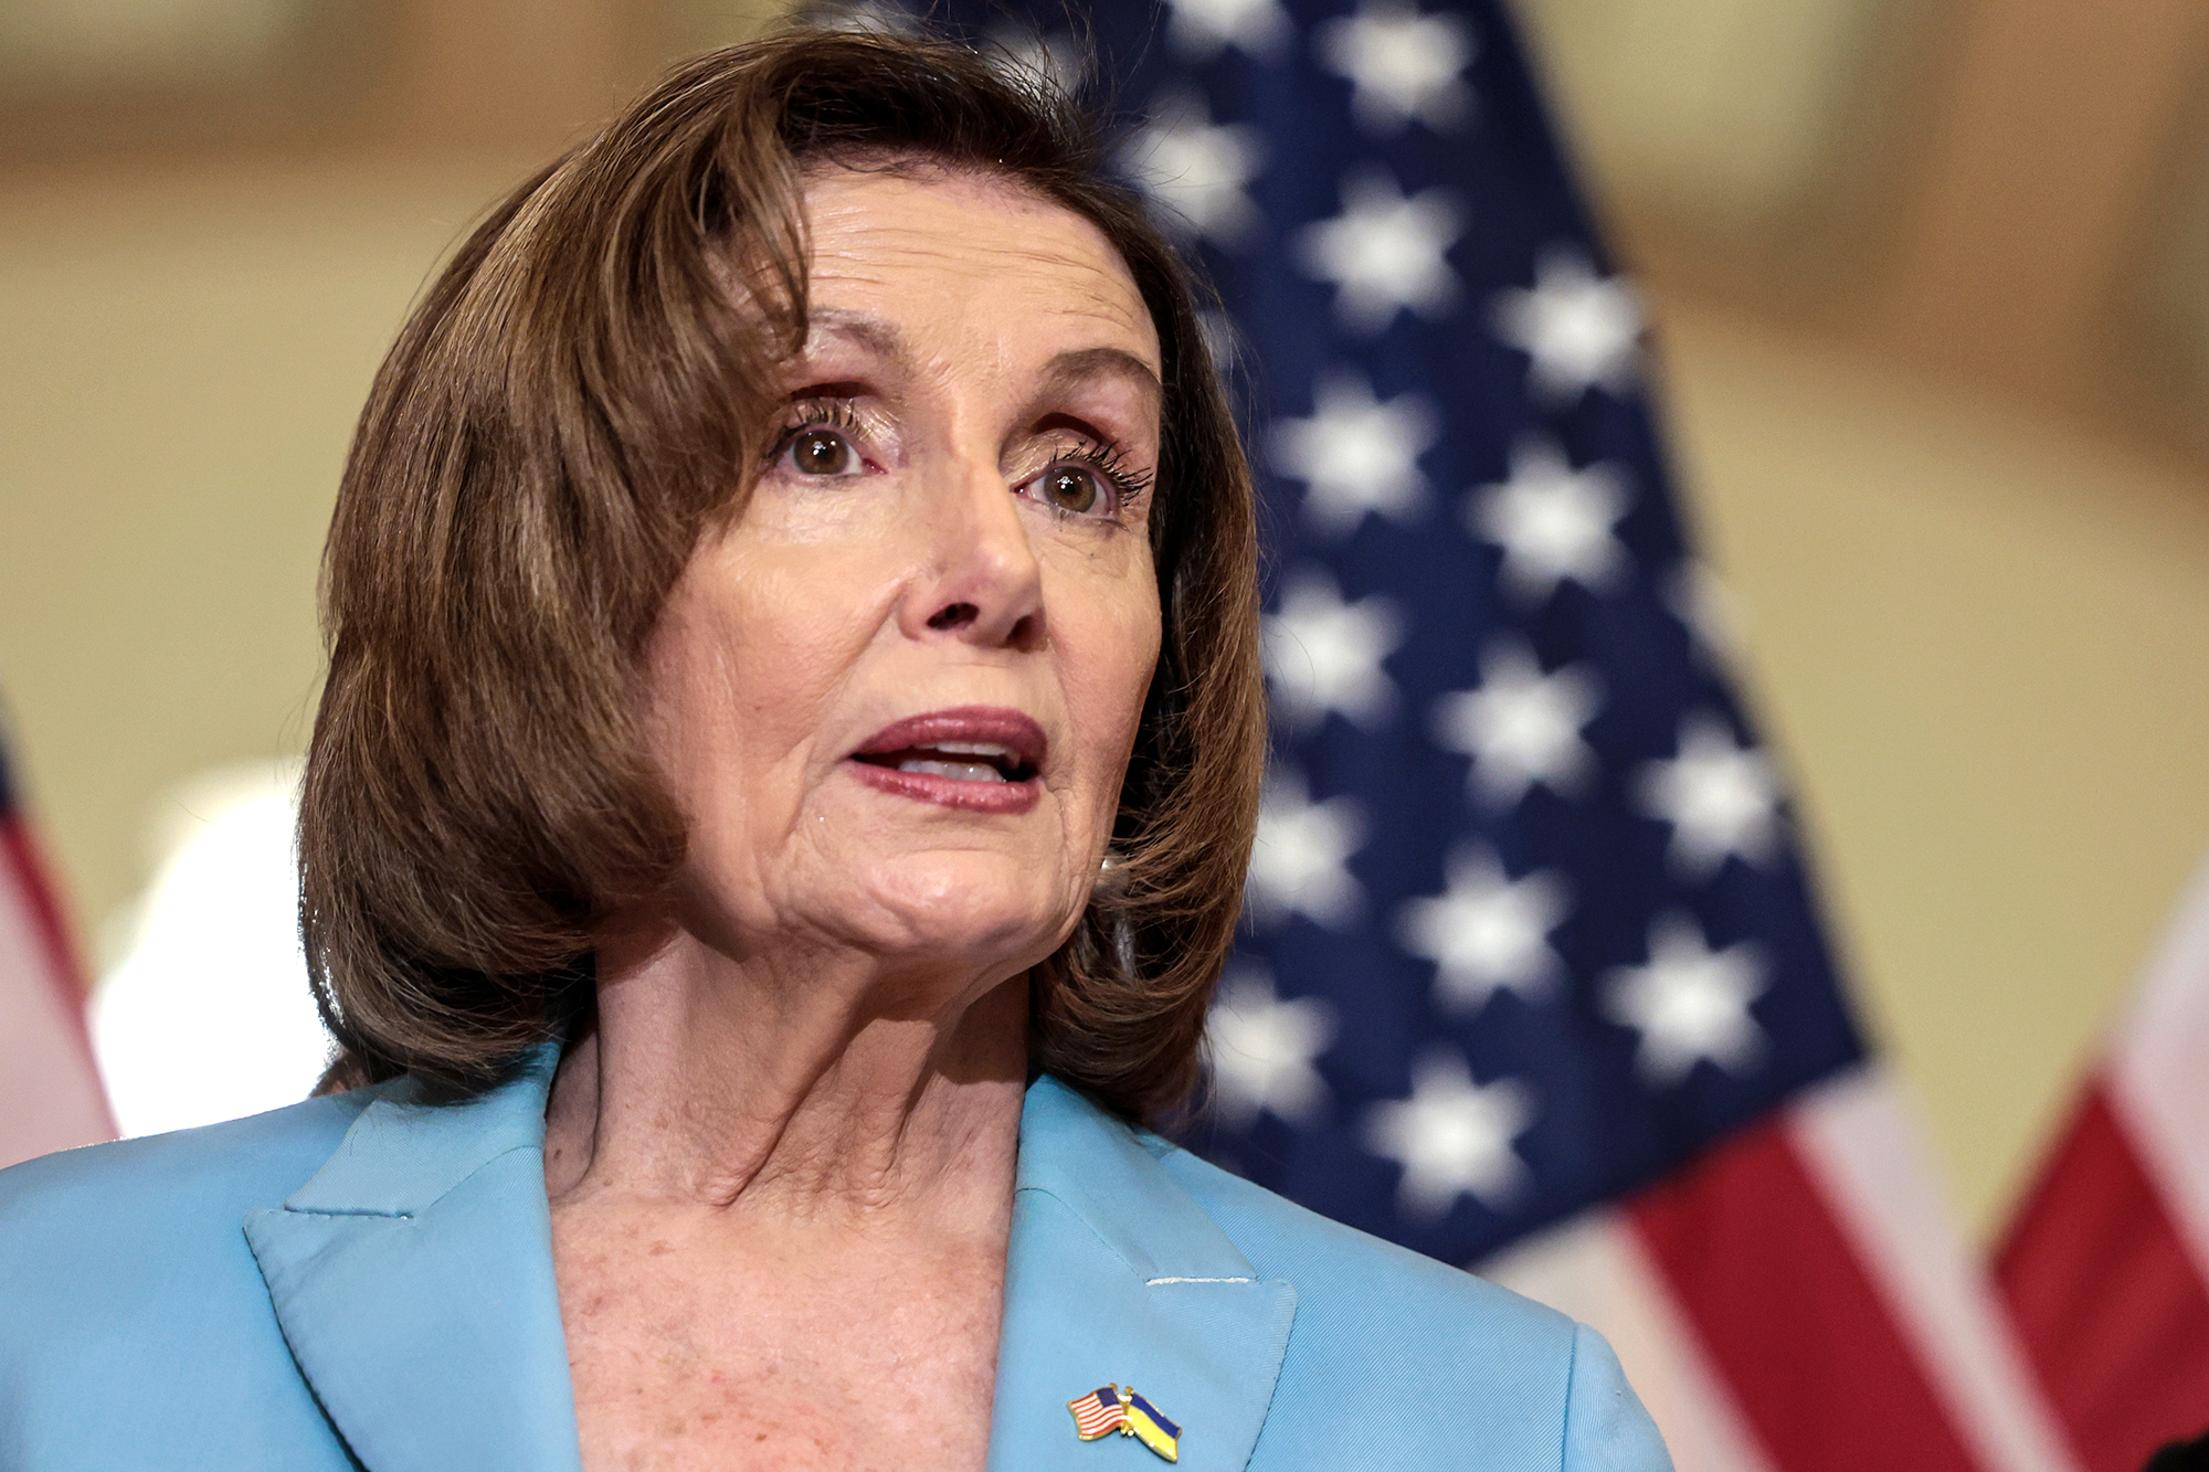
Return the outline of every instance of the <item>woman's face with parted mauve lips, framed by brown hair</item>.
{"type": "Polygon", "coordinates": [[[654,634],[680,922],[994,984],[1096,882],[1158,661],[1158,332],[1085,219],[822,170],[811,338],[654,634]]]}

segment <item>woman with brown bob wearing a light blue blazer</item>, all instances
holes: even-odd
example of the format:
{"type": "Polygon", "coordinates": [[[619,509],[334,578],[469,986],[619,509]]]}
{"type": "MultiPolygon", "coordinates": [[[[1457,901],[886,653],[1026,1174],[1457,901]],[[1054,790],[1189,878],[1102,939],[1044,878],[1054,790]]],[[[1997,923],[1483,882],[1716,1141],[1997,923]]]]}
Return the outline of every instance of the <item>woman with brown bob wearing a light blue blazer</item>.
{"type": "Polygon", "coordinates": [[[1056,104],[678,71],[360,424],[300,824],[353,1087],[0,1178],[0,1465],[1666,1465],[1593,1333],[1133,1127],[1237,913],[1253,566],[1056,104]]]}

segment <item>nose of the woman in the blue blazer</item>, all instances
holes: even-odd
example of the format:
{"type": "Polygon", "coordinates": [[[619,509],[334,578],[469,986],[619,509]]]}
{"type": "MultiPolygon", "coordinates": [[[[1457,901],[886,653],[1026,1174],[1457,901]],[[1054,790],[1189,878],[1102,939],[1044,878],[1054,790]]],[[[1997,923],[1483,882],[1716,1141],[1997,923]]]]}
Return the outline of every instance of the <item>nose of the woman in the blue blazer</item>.
{"type": "Polygon", "coordinates": [[[1043,564],[994,458],[948,460],[923,495],[928,559],[899,610],[906,637],[1040,650],[1043,564]]]}

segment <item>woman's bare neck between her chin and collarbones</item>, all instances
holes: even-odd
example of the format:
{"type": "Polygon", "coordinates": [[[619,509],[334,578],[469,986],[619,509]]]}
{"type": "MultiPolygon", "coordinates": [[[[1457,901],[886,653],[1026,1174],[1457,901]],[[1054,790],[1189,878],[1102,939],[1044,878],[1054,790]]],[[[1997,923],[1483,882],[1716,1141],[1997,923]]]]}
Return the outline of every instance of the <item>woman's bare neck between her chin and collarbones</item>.
{"type": "Polygon", "coordinates": [[[1012,1200],[1027,986],[873,957],[601,948],[546,1110],[554,1205],[619,1194],[791,1224],[970,1222],[1012,1200]]]}

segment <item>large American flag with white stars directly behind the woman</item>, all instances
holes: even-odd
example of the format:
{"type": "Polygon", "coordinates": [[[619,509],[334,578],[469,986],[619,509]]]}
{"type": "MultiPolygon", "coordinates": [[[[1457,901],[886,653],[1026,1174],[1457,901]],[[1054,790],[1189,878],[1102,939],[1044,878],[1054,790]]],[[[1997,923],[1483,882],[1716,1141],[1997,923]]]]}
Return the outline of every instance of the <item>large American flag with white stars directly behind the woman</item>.
{"type": "Polygon", "coordinates": [[[1851,1019],[1500,4],[926,9],[1124,113],[1239,369],[1275,763],[1193,1143],[1595,1322],[1683,1468],[2070,1468],[1851,1019]]]}

